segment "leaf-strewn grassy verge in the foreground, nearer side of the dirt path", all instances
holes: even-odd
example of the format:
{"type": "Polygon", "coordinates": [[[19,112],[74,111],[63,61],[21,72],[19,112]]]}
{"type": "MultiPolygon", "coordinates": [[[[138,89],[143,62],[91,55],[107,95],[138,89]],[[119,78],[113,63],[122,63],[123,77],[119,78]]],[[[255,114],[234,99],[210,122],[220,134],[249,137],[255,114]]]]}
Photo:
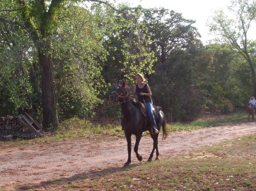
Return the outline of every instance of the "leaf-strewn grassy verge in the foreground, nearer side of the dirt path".
{"type": "Polygon", "coordinates": [[[18,190],[240,190],[256,189],[256,135],[204,147],[171,159],[23,185],[18,190]]]}

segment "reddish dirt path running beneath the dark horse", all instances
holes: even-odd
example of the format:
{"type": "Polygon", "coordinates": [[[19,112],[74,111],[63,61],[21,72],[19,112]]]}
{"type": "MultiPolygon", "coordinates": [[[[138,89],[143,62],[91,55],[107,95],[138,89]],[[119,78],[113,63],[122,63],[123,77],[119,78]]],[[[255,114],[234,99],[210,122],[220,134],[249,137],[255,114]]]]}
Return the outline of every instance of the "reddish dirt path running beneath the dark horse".
{"type": "MultiPolygon", "coordinates": [[[[255,133],[255,122],[171,133],[166,140],[159,139],[160,158],[171,158],[192,148],[211,146],[255,133]]],[[[133,136],[133,146],[134,142],[133,136]]],[[[151,149],[152,139],[149,136],[142,137],[139,154],[143,156],[143,161],[147,160],[151,149]]],[[[63,179],[80,173],[89,175],[109,167],[122,167],[127,160],[125,139],[108,142],[76,139],[0,151],[0,188],[63,179]]],[[[139,163],[134,152],[131,163],[139,163]]]]}

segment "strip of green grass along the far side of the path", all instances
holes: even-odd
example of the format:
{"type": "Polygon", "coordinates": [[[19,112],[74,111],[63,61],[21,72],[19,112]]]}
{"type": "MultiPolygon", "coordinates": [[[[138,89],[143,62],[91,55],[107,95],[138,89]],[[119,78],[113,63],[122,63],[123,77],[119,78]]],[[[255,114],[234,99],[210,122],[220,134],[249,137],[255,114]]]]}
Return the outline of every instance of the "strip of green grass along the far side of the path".
{"type": "MultiPolygon", "coordinates": [[[[233,113],[233,114],[218,114],[218,116],[210,118],[200,118],[199,120],[193,121],[191,123],[180,123],[176,122],[173,124],[168,124],[167,128],[170,131],[181,131],[181,130],[192,130],[201,129],[209,126],[221,126],[235,124],[239,122],[247,122],[246,113],[233,113]]],[[[115,124],[121,124],[120,122],[115,122],[115,124]]],[[[123,137],[123,131],[121,125],[112,124],[93,124],[90,121],[81,120],[80,118],[74,117],[70,120],[61,122],[58,134],[63,135],[60,138],[73,138],[73,137],[88,137],[91,134],[99,135],[114,135],[118,137],[123,137]]]]}

